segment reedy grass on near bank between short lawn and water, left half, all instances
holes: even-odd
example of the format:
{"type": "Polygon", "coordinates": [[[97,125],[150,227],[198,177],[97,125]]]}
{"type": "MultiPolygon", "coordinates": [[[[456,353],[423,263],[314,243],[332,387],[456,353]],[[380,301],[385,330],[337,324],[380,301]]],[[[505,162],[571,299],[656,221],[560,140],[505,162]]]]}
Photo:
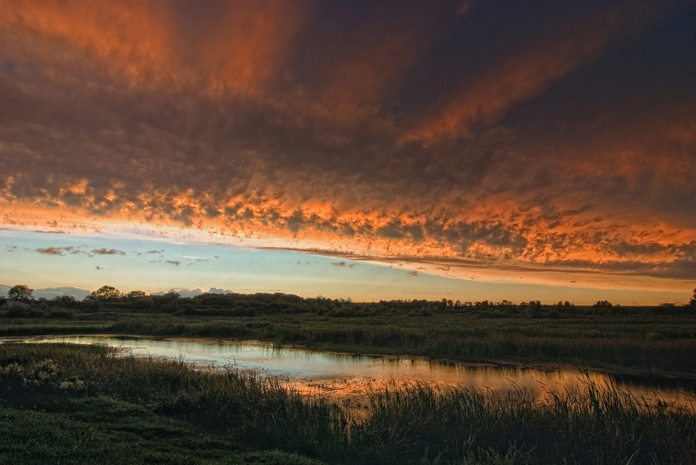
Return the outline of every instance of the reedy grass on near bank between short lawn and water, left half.
{"type": "Polygon", "coordinates": [[[113,395],[226,430],[233,440],[255,447],[323,455],[326,446],[340,445],[335,432],[346,424],[335,405],[306,400],[274,377],[210,375],[183,361],[117,357],[99,346],[1,344],[0,366],[0,381],[10,391],[113,395]]]}

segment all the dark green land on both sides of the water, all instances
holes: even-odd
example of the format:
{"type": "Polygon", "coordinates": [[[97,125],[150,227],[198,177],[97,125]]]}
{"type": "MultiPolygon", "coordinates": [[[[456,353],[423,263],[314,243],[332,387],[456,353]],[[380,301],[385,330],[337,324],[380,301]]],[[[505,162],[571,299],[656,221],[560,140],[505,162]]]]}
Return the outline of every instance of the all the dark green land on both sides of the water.
{"type": "MultiPolygon", "coordinates": [[[[0,336],[129,334],[316,350],[565,364],[693,388],[693,307],[356,304],[284,294],[67,298],[0,310],[0,336]]],[[[539,404],[413,385],[354,418],[253,373],[205,374],[108,348],[0,344],[0,462],[693,464],[696,414],[587,380],[539,404]],[[94,446],[99,444],[99,446],[94,446]]]]}

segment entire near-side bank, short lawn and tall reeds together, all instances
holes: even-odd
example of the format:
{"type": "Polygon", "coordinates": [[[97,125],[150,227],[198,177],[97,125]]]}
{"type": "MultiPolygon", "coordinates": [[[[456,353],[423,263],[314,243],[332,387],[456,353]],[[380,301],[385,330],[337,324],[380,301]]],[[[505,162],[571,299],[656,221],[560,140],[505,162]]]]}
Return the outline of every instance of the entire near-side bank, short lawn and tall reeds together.
{"type": "Polygon", "coordinates": [[[696,463],[693,411],[591,385],[546,405],[412,386],[356,422],[276,380],[94,346],[2,344],[0,367],[0,462],[696,463]]]}

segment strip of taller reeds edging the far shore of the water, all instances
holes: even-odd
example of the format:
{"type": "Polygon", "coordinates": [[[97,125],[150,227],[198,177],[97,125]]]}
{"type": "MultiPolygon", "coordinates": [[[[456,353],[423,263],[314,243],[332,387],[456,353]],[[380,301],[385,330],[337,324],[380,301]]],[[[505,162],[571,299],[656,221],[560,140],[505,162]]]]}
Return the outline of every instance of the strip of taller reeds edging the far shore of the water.
{"type": "MultiPolygon", "coordinates": [[[[616,325],[598,321],[579,328],[572,322],[566,327],[534,325],[513,328],[483,325],[469,320],[468,324],[454,321],[450,327],[445,320],[421,318],[412,323],[390,325],[356,325],[332,319],[315,320],[296,317],[293,320],[160,322],[142,323],[136,320],[113,323],[108,332],[117,334],[147,334],[152,336],[188,336],[258,339],[276,344],[297,344],[317,350],[370,352],[380,354],[421,355],[434,359],[464,361],[521,361],[525,363],[562,363],[610,370],[696,374],[691,354],[696,352],[696,338],[685,336],[656,339],[645,335],[618,331],[616,325]],[[585,327],[587,326],[587,327],[585,327]],[[520,327],[525,329],[521,332],[520,327]],[[613,330],[612,334],[596,334],[597,328],[613,330]],[[594,332],[593,332],[594,331],[594,332]]],[[[527,323],[527,322],[525,322],[527,323]]],[[[644,326],[655,327],[651,323],[644,326]]],[[[623,329],[623,328],[622,328],[623,329]]],[[[629,328],[635,331],[635,328],[629,328]]],[[[667,332],[667,329],[663,330],[667,332]]]]}

